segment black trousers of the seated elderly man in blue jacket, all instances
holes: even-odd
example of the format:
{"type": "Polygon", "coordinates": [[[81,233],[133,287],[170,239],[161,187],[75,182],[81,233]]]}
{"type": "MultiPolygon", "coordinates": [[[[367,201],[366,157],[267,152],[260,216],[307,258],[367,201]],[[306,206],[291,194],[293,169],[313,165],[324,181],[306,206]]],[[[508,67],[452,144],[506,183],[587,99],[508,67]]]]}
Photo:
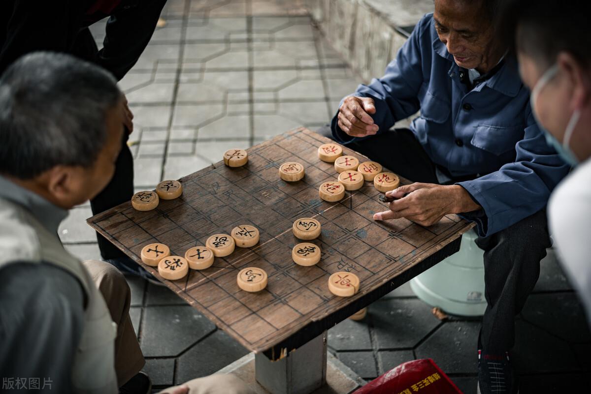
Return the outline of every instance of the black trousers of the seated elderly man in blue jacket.
{"type": "MultiPolygon", "coordinates": [[[[330,127],[318,130],[333,138],[330,127]]],[[[436,166],[407,129],[391,130],[348,146],[414,182],[439,183],[436,166]]],[[[454,182],[465,179],[452,179],[454,182]]],[[[515,343],[515,315],[540,276],[540,261],[550,247],[544,211],[531,215],[476,244],[484,251],[485,297],[480,342],[484,352],[502,354],[515,343]]]]}

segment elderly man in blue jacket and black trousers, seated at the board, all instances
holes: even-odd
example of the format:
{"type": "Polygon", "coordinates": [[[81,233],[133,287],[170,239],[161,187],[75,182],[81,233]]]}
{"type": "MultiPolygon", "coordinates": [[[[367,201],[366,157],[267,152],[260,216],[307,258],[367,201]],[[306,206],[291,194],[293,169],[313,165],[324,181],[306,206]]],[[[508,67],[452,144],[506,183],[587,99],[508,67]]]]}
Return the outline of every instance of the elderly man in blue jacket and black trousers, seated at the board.
{"type": "Polygon", "coordinates": [[[375,220],[476,222],[488,301],[479,390],[510,393],[514,316],[550,246],[544,208],[568,167],[535,123],[495,11],[493,0],[435,0],[385,75],[343,99],[329,135],[417,181],[388,192],[398,199],[375,220]],[[389,130],[419,110],[410,130],[389,130]]]}

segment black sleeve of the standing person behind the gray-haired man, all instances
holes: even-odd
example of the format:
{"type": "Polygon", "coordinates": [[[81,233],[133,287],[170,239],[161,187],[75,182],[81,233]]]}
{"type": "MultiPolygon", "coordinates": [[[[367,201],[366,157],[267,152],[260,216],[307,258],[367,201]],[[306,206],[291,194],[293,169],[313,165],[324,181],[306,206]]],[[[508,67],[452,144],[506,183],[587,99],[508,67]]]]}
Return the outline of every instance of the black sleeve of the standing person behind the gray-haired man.
{"type": "Polygon", "coordinates": [[[144,0],[128,9],[119,7],[107,22],[96,63],[121,80],[150,42],[164,4],[166,0],[144,0]]]}

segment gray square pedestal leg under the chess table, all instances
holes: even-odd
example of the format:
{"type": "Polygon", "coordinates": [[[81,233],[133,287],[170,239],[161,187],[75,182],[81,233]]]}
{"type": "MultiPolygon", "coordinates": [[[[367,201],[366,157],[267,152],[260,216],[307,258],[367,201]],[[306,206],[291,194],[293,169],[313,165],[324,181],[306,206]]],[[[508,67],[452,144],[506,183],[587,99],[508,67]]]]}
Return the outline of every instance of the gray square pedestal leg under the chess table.
{"type": "Polygon", "coordinates": [[[272,394],[309,394],[320,388],[326,383],[326,331],[281,360],[255,354],[255,376],[272,394]]]}

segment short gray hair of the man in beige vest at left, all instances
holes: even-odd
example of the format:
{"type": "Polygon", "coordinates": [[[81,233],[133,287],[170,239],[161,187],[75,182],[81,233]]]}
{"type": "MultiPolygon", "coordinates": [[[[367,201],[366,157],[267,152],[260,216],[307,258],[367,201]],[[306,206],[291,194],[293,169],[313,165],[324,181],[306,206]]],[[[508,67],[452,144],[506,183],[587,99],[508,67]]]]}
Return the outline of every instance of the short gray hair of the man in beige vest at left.
{"type": "Polygon", "coordinates": [[[71,55],[35,52],[0,78],[0,173],[31,179],[57,165],[88,168],[105,146],[116,80],[71,55]]]}

